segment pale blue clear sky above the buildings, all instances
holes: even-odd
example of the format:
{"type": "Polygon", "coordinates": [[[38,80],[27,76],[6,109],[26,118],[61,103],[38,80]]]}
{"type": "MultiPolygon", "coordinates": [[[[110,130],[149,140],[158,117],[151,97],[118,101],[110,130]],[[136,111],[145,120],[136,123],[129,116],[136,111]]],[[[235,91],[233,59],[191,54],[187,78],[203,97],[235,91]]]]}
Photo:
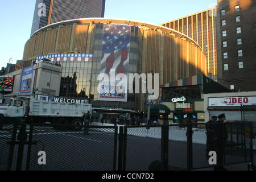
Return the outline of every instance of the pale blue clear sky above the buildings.
{"type": "MultiPolygon", "coordinates": [[[[0,68],[6,67],[9,62],[15,64],[16,60],[22,60],[24,46],[30,39],[35,2],[36,0],[1,2],[0,68]]],[[[209,9],[213,5],[217,5],[217,0],[106,0],[105,18],[160,24],[209,9]]]]}

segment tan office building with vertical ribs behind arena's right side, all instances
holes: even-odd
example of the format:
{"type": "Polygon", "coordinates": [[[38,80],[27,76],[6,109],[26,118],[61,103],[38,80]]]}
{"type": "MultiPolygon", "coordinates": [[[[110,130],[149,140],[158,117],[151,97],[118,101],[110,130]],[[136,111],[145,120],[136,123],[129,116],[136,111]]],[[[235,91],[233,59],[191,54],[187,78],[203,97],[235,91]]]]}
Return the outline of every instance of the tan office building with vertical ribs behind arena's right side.
{"type": "Polygon", "coordinates": [[[207,57],[207,76],[217,80],[216,9],[214,7],[160,24],[195,40],[207,57]]]}

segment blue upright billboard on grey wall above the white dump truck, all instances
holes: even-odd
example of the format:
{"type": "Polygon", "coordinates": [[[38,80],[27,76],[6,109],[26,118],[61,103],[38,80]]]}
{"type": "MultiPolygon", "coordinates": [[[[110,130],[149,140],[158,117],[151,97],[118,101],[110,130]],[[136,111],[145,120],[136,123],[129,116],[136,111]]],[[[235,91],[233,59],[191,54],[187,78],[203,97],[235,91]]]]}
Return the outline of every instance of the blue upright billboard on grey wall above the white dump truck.
{"type": "Polygon", "coordinates": [[[22,80],[20,82],[20,93],[30,93],[32,87],[34,65],[23,69],[22,80]]]}

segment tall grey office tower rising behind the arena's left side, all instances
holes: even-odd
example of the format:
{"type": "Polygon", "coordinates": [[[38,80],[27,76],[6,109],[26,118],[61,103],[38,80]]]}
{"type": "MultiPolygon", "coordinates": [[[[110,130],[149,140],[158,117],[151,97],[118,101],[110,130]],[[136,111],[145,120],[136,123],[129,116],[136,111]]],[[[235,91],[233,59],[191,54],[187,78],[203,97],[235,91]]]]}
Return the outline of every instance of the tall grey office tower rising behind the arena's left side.
{"type": "Polygon", "coordinates": [[[105,0],[36,0],[31,35],[48,24],[90,17],[104,17],[105,0]]]}

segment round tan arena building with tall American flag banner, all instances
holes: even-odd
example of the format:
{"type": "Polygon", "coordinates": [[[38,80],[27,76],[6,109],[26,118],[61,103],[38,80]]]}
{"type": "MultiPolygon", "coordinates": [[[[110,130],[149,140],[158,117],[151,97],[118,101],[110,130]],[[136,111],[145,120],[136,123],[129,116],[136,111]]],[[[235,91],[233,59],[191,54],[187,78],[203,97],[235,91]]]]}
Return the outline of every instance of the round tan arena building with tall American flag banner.
{"type": "Polygon", "coordinates": [[[104,86],[100,94],[99,73],[152,73],[152,80],[159,73],[159,85],[207,73],[206,57],[193,39],[171,28],[126,19],[73,19],[40,28],[24,47],[23,63],[46,59],[61,65],[59,96],[89,98],[94,111],[101,113],[146,113],[147,96],[141,91],[104,94],[104,86]]]}

